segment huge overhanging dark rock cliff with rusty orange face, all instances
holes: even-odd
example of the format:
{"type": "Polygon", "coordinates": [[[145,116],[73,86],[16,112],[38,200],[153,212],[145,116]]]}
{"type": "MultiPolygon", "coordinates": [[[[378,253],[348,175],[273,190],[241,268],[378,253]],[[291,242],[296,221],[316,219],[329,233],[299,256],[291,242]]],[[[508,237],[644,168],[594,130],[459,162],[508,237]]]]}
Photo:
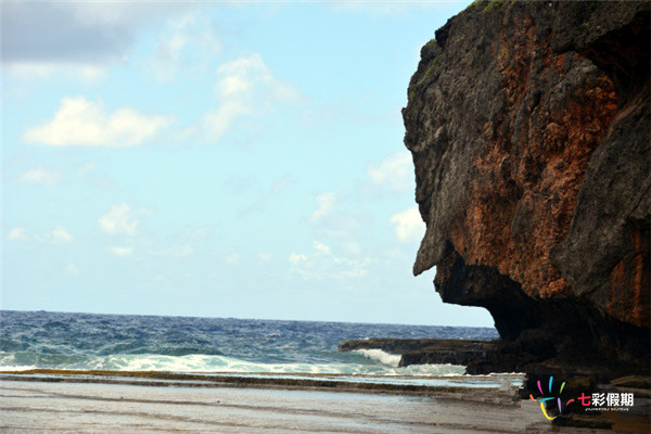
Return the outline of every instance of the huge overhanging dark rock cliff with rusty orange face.
{"type": "Polygon", "coordinates": [[[650,370],[650,10],[480,1],[421,50],[413,271],[493,315],[470,372],[650,370]]]}

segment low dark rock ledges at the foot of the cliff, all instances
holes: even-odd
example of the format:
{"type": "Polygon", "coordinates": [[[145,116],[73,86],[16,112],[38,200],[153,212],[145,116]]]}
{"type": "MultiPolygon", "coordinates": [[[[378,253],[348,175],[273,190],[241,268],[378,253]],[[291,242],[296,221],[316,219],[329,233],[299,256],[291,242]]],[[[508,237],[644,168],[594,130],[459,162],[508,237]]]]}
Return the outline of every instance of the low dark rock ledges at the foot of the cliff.
{"type": "MultiPolygon", "coordinates": [[[[522,358],[521,353],[508,354],[508,346],[500,340],[473,341],[449,339],[393,339],[371,337],[342,342],[340,352],[356,349],[382,349],[390,354],[399,354],[400,367],[423,363],[452,363],[467,366],[467,373],[485,374],[487,367],[493,372],[509,372],[514,358],[522,358]],[[506,352],[506,353],[505,353],[506,352]],[[501,361],[500,361],[501,360],[501,361]],[[502,369],[500,369],[500,367],[502,369]],[[477,372],[478,371],[478,372],[477,372]]],[[[556,376],[562,379],[565,396],[579,396],[588,393],[631,394],[636,406],[620,412],[604,408],[588,411],[583,404],[575,400],[567,405],[562,413],[549,409],[553,417],[552,424],[558,426],[615,430],[617,432],[650,432],[651,431],[651,378],[648,375],[626,375],[625,369],[616,372],[603,370],[600,366],[567,367],[549,363],[531,363],[518,397],[523,400],[539,396],[540,380],[547,381],[556,376]]]]}

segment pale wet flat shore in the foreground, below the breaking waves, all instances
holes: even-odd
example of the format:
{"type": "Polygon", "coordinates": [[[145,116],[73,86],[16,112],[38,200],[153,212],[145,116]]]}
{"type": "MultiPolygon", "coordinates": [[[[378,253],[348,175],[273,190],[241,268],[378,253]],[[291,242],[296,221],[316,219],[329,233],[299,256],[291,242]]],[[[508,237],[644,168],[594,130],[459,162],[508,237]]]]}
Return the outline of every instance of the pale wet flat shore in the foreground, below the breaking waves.
{"type": "Polygon", "coordinates": [[[551,432],[536,403],[490,399],[497,396],[495,390],[459,394],[444,388],[441,394],[432,390],[426,394],[405,395],[381,390],[197,387],[182,381],[164,384],[75,375],[20,376],[21,381],[16,381],[3,375],[0,381],[2,432],[551,432]]]}

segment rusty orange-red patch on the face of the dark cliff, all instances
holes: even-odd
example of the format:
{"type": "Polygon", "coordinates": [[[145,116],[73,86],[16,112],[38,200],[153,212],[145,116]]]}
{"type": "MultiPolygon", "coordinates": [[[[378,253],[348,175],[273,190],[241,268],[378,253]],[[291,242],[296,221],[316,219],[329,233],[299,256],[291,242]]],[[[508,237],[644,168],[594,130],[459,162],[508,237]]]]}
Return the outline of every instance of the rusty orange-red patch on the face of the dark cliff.
{"type": "Polygon", "coordinates": [[[533,27],[520,28],[515,38],[502,35],[499,47],[507,103],[485,124],[469,203],[452,222],[450,239],[468,264],[497,267],[532,296],[570,295],[551,251],[567,233],[590,155],[617,113],[614,86],[601,74],[597,82],[571,89],[561,106],[548,90],[528,107],[536,61],[551,62],[553,68],[542,74],[559,76],[558,82],[565,54],[554,56],[549,39],[536,40],[533,27]],[[513,136],[526,145],[512,149],[513,136]]]}

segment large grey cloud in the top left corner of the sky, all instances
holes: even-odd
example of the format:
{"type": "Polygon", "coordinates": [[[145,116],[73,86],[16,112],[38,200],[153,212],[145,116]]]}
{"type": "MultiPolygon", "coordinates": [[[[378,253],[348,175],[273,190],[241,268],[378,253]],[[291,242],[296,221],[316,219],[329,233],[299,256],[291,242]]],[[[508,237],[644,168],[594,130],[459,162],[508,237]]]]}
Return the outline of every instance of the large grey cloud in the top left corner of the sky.
{"type": "Polygon", "coordinates": [[[122,62],[144,26],[190,8],[189,2],[5,1],[3,63],[122,62]]]}

